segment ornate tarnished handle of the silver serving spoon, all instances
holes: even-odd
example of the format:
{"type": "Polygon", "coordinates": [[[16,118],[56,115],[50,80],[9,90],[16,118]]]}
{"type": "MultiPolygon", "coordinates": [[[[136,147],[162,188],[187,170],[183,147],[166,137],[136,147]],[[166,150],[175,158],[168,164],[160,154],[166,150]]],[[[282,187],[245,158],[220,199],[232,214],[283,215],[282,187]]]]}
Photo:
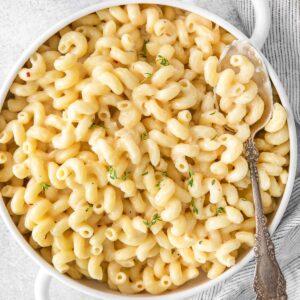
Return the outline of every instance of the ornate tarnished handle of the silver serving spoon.
{"type": "Polygon", "coordinates": [[[258,151],[252,137],[245,143],[245,153],[249,164],[255,205],[256,245],[254,247],[256,268],[254,290],[258,300],[286,300],[286,284],[275,257],[274,244],[271,240],[262,207],[256,163],[258,151]]]}

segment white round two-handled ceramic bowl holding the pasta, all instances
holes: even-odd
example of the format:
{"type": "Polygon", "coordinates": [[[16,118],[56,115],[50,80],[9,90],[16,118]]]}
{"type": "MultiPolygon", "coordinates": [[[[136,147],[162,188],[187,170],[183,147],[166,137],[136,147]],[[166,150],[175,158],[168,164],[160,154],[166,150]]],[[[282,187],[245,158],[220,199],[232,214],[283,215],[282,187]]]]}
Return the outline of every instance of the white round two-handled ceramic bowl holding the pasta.
{"type": "MultiPolygon", "coordinates": [[[[52,28],[50,28],[47,32],[45,32],[42,36],[39,37],[32,45],[29,47],[20,57],[18,62],[12,68],[9,76],[7,77],[6,81],[2,84],[0,89],[0,103],[1,106],[6,98],[7,92],[15,79],[18,70],[24,65],[24,63],[28,60],[30,55],[41,45],[43,44],[49,37],[55,34],[64,26],[68,25],[69,23],[73,22],[74,20],[95,12],[100,9],[104,9],[107,7],[117,6],[117,5],[124,5],[128,3],[155,3],[161,5],[169,5],[173,7],[178,7],[187,11],[191,11],[197,13],[207,19],[210,19],[214,23],[220,25],[221,27],[225,28],[231,34],[236,36],[238,39],[248,39],[242,32],[240,32],[236,27],[231,25],[230,23],[226,22],[222,18],[208,12],[204,9],[199,8],[198,6],[193,5],[193,0],[184,0],[184,1],[177,1],[177,0],[110,0],[107,2],[101,2],[97,5],[87,7],[76,14],[67,17],[60,23],[56,24],[52,28]]],[[[268,8],[268,1],[267,0],[252,0],[254,9],[255,9],[255,19],[256,25],[251,37],[251,42],[256,45],[258,49],[262,47],[264,44],[265,39],[267,38],[269,28],[270,28],[270,11],[268,8]]],[[[290,135],[290,170],[289,170],[289,178],[285,188],[285,192],[281,199],[280,205],[278,210],[271,222],[270,225],[270,232],[271,234],[276,229],[277,225],[279,224],[285,209],[287,207],[293,183],[295,179],[296,173],[296,160],[297,160],[297,139],[296,139],[296,129],[295,123],[293,119],[293,113],[291,107],[288,102],[288,98],[285,94],[282,84],[280,83],[274,69],[271,65],[265,61],[267,64],[267,68],[270,74],[270,77],[273,81],[275,88],[280,96],[281,102],[285,109],[288,112],[288,126],[289,126],[289,135],[290,135]]],[[[1,197],[1,196],[0,196],[1,197]]],[[[187,284],[183,285],[182,287],[164,293],[163,295],[150,295],[150,294],[139,294],[139,295],[123,295],[119,292],[110,290],[106,285],[99,284],[95,281],[91,280],[80,280],[76,281],[71,279],[70,277],[60,274],[57,272],[50,264],[48,264],[40,255],[38,255],[31,246],[27,243],[27,241],[23,238],[22,234],[18,231],[17,227],[13,223],[9,213],[4,205],[3,199],[0,199],[0,214],[4,223],[7,225],[9,231],[11,232],[12,236],[17,240],[19,245],[23,248],[23,250],[40,266],[40,271],[37,275],[36,282],[35,282],[35,297],[36,300],[48,300],[49,298],[49,284],[51,278],[54,277],[57,280],[63,282],[64,284],[84,293],[87,295],[91,295],[96,298],[102,299],[182,299],[189,296],[192,296],[196,293],[199,293],[205,289],[211,288],[212,286],[216,285],[224,281],[225,279],[232,276],[234,273],[238,272],[249,260],[253,257],[253,250],[250,251],[246,256],[244,256],[235,266],[227,270],[221,276],[216,279],[207,281],[204,278],[198,277],[187,284]]]]}

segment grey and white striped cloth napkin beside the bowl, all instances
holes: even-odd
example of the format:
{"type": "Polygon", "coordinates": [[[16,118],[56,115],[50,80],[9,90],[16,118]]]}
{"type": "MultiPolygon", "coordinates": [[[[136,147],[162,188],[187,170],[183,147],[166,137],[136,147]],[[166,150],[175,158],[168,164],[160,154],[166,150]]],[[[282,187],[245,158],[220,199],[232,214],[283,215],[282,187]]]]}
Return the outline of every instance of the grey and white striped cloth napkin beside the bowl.
{"type": "MultiPolygon", "coordinates": [[[[201,1],[199,1],[201,4],[201,1]]],[[[252,32],[254,13],[250,0],[233,0],[244,33],[252,32]]],[[[296,122],[300,124],[300,1],[270,0],[272,24],[262,52],[276,70],[289,96],[296,122]]],[[[299,135],[298,135],[299,136],[299,135]]],[[[299,171],[299,163],[298,163],[299,171]]],[[[289,300],[300,299],[300,177],[273,241],[287,281],[289,300]]],[[[254,260],[225,282],[190,300],[252,300],[254,260]]]]}

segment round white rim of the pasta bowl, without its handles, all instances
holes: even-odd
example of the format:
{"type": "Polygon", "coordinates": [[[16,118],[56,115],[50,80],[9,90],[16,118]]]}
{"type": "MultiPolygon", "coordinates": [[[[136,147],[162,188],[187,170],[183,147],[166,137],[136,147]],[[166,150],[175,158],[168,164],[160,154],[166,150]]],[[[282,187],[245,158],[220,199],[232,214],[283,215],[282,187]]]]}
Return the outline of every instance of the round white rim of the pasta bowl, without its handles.
{"type": "MultiPolygon", "coordinates": [[[[186,0],[185,0],[186,1],[186,0]]],[[[203,9],[199,6],[196,6],[191,3],[187,3],[185,1],[178,1],[178,0],[107,0],[105,2],[97,3],[94,5],[90,5],[86,8],[79,9],[74,14],[65,17],[60,22],[54,24],[51,26],[48,30],[46,30],[43,34],[41,34],[40,37],[35,39],[30,43],[30,46],[26,48],[25,51],[21,54],[20,58],[17,60],[17,62],[14,64],[12,69],[10,70],[9,74],[6,76],[6,80],[4,80],[2,87],[0,88],[0,109],[2,108],[2,105],[6,99],[6,95],[9,91],[9,88],[15,79],[17,72],[19,69],[25,64],[25,62],[29,59],[32,53],[37,50],[39,46],[41,46],[48,38],[50,38],[53,34],[58,32],[60,29],[65,27],[66,25],[70,24],[71,22],[79,19],[80,17],[83,17],[85,15],[88,15],[90,13],[93,13],[95,11],[119,6],[119,5],[126,5],[126,4],[158,4],[158,5],[168,5],[172,7],[177,7],[186,11],[194,12],[196,14],[199,14],[212,22],[218,24],[220,27],[226,29],[228,32],[233,34],[238,39],[246,39],[248,40],[248,37],[246,37],[241,31],[239,31],[235,26],[230,24],[229,22],[225,21],[223,18],[215,15],[214,13],[211,13],[207,11],[206,9],[203,9]]],[[[260,51],[259,51],[260,52],[260,51]]],[[[260,52],[262,55],[262,53],[260,52]]],[[[262,55],[263,56],[263,55],[262,55]]],[[[263,56],[264,57],[264,56],[263,56]]],[[[264,57],[265,59],[265,57],[264,57]]],[[[293,184],[295,180],[296,175],[296,165],[297,165],[297,135],[296,135],[296,127],[293,117],[293,112],[290,107],[290,104],[288,102],[288,97],[285,93],[285,90],[277,77],[274,69],[270,65],[270,63],[265,59],[265,63],[267,65],[267,69],[269,72],[269,75],[272,79],[272,82],[278,92],[278,95],[280,97],[280,101],[285,107],[285,109],[288,112],[288,129],[289,129],[289,137],[290,137],[290,162],[293,163],[289,166],[289,176],[288,181],[285,187],[284,194],[281,198],[280,205],[275,213],[275,216],[272,220],[272,223],[269,226],[270,234],[273,234],[275,229],[277,228],[280,220],[283,217],[283,214],[286,210],[286,207],[289,202],[290,195],[292,193],[293,184]]],[[[213,286],[215,286],[218,283],[223,282],[225,279],[231,277],[233,274],[237,273],[239,270],[242,269],[243,266],[245,266],[251,258],[254,256],[254,251],[251,249],[245,257],[243,257],[236,265],[231,267],[230,269],[226,270],[223,274],[221,274],[219,277],[209,280],[207,282],[204,282],[200,285],[196,285],[194,287],[187,288],[186,290],[174,290],[167,293],[163,293],[160,295],[151,295],[151,294],[137,294],[137,295],[126,295],[121,293],[116,293],[115,291],[111,290],[111,292],[101,291],[97,290],[91,287],[88,287],[80,281],[74,280],[70,278],[67,275],[59,273],[57,270],[54,269],[52,265],[50,265],[44,258],[42,258],[37,252],[30,246],[30,244],[25,240],[23,235],[19,232],[16,225],[14,224],[12,218],[10,217],[8,210],[4,204],[2,195],[0,194],[0,215],[8,227],[10,233],[14,236],[15,240],[18,242],[20,247],[24,250],[24,252],[31,257],[32,260],[34,260],[40,268],[45,270],[51,277],[56,278],[60,282],[68,285],[69,287],[72,287],[73,289],[83,292],[84,294],[96,297],[96,298],[105,298],[107,296],[111,297],[111,299],[172,299],[174,296],[179,298],[185,298],[192,296],[194,294],[197,294],[199,292],[202,292],[204,290],[207,290],[213,286]]],[[[177,299],[179,299],[177,298],[177,299]]]]}

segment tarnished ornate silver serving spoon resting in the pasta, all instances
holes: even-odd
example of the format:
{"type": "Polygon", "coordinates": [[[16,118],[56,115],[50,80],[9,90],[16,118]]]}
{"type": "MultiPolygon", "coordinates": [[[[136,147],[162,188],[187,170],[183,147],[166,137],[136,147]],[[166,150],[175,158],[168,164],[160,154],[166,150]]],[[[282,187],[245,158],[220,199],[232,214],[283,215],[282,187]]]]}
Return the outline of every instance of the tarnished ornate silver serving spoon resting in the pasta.
{"type": "Polygon", "coordinates": [[[251,135],[245,142],[245,155],[250,169],[256,221],[256,244],[254,247],[256,268],[253,287],[259,300],[285,300],[287,299],[286,283],[276,260],[274,244],[266,225],[262,207],[256,167],[259,153],[254,142],[256,133],[265,127],[272,116],[271,82],[262,57],[247,41],[234,41],[224,49],[218,65],[219,71],[227,68],[232,69],[230,57],[235,54],[244,55],[253,63],[255,73],[252,80],[257,84],[258,93],[265,104],[262,117],[251,126],[251,135]]]}

